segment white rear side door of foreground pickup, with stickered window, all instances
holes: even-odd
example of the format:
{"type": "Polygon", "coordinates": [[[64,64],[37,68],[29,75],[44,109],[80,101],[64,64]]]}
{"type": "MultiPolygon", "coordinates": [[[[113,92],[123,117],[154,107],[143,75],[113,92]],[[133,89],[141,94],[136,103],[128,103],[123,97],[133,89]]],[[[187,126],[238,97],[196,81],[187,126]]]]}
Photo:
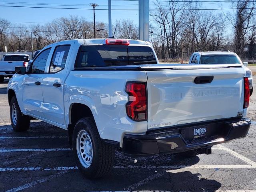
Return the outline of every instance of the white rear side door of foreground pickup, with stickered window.
{"type": "Polygon", "coordinates": [[[47,120],[60,125],[65,125],[63,90],[73,44],[63,43],[55,47],[48,66],[48,75],[42,80],[42,111],[47,120]]]}

